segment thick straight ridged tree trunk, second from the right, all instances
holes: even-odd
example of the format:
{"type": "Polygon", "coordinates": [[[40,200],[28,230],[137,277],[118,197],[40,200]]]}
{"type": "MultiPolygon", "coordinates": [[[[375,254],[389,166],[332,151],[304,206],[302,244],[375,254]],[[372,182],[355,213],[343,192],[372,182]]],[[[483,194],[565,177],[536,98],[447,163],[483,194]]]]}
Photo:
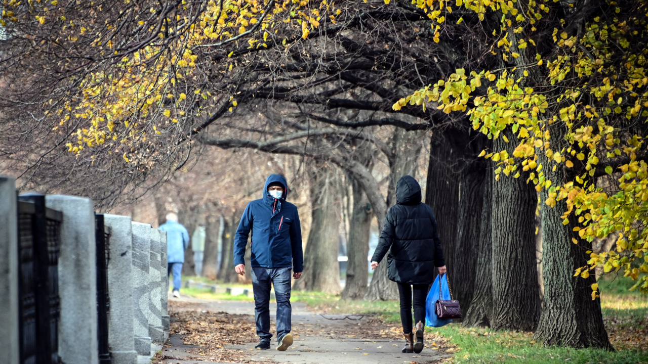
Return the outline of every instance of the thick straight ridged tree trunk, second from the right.
{"type": "MultiPolygon", "coordinates": [[[[515,140],[505,130],[509,140],[515,140]]],[[[509,146],[502,135],[493,141],[499,152],[509,146]]],[[[494,330],[535,330],[540,317],[535,262],[535,208],[538,197],[524,177],[502,174],[492,194],[492,298],[494,330]]]]}

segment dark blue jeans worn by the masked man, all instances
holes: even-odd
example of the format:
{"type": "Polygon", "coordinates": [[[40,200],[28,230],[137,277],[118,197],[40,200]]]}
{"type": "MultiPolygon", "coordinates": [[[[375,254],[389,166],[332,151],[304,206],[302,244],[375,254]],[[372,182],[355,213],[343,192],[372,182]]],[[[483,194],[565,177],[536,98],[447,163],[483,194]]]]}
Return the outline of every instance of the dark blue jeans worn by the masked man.
{"type": "Polygon", "coordinates": [[[260,341],[270,341],[270,285],[277,298],[277,340],[290,333],[290,267],[252,267],[252,290],[254,291],[254,321],[260,341]]]}

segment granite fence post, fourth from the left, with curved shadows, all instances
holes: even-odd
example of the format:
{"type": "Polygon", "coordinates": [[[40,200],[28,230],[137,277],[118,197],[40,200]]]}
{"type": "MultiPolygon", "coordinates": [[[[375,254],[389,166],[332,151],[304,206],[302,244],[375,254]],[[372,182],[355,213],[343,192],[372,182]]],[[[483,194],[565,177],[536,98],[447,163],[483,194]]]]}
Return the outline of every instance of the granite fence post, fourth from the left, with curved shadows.
{"type": "Polygon", "coordinates": [[[151,261],[151,225],[133,222],[132,229],[135,351],[139,355],[150,355],[151,337],[148,334],[148,316],[150,315],[151,285],[148,275],[151,261]]]}

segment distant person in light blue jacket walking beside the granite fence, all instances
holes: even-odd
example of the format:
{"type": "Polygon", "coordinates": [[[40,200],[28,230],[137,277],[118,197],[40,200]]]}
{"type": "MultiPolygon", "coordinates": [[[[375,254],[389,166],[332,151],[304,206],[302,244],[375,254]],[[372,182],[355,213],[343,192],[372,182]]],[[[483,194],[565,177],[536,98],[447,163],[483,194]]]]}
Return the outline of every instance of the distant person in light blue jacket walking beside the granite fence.
{"type": "Polygon", "coordinates": [[[178,223],[178,215],[167,214],[167,223],[159,227],[167,232],[167,277],[173,273],[173,297],[180,297],[180,272],[189,247],[189,233],[178,223]]]}

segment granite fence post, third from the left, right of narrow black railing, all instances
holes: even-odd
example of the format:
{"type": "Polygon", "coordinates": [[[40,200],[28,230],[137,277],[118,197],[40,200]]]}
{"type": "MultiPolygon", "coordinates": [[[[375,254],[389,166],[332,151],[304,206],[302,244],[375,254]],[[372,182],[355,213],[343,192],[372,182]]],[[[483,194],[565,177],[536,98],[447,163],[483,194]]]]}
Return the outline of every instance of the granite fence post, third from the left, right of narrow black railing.
{"type": "Polygon", "coordinates": [[[108,344],[112,364],[137,364],[133,341],[133,230],[128,216],[104,214],[110,226],[108,344]]]}

